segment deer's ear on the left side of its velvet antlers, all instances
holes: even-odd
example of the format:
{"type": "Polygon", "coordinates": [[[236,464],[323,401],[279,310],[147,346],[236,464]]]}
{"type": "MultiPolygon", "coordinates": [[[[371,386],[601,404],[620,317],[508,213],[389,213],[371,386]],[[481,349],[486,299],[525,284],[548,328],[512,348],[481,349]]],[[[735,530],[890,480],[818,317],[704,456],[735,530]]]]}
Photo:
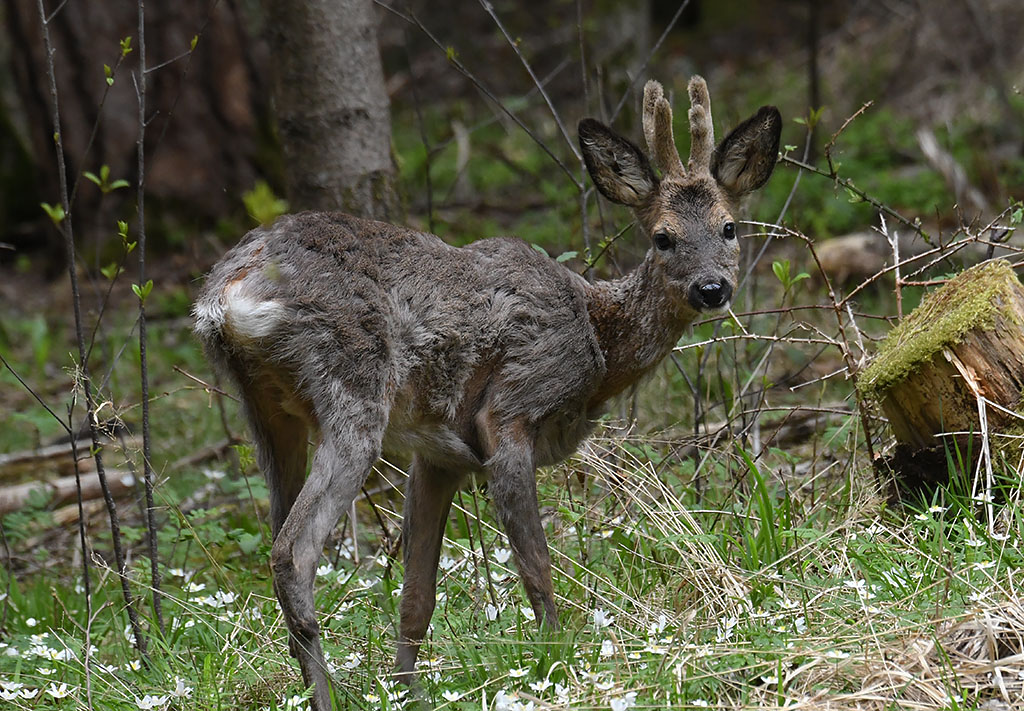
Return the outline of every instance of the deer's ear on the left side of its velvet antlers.
{"type": "Polygon", "coordinates": [[[611,202],[640,207],[657,190],[643,151],[600,121],[580,122],[580,148],[594,184],[611,202]]]}

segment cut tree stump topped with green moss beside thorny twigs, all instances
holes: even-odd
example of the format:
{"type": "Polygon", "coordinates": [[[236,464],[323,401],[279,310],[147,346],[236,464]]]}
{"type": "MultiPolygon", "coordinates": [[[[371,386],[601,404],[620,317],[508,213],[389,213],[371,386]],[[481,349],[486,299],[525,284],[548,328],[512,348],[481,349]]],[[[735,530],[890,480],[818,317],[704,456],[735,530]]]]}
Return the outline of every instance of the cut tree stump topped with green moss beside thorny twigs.
{"type": "MultiPolygon", "coordinates": [[[[1024,287],[1005,260],[967,269],[928,294],[886,337],[857,381],[897,442],[936,447],[945,432],[979,432],[978,395],[1017,410],[1024,391],[1024,287]]],[[[1013,416],[986,408],[989,428],[1013,416]]],[[[1019,423],[1014,423],[1019,428],[1019,423]]]]}

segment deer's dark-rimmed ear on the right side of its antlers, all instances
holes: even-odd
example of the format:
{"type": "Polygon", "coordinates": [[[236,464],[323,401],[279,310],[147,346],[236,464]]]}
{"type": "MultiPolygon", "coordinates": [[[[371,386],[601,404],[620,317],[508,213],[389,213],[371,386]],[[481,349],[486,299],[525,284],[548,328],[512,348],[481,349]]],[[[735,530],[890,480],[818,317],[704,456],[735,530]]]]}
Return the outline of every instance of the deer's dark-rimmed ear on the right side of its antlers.
{"type": "Polygon", "coordinates": [[[711,158],[711,174],[729,197],[738,200],[768,181],[778,160],[782,117],[775,107],[761,107],[736,126],[711,158]]]}

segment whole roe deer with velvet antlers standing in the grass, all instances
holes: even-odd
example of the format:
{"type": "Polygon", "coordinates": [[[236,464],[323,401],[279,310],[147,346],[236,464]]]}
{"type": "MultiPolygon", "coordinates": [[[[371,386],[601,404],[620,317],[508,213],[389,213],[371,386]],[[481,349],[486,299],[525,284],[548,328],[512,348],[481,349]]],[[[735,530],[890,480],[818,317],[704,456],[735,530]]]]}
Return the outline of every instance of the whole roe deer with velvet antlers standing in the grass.
{"type": "Polygon", "coordinates": [[[739,253],[733,210],[777,159],[774,107],[715,148],[703,79],[690,80],[689,96],[684,167],[662,85],[644,88],[643,130],[660,178],[634,143],[580,122],[597,189],[632,207],[650,240],[643,262],[617,281],[590,284],[516,239],[455,248],[322,212],[253,229],[213,267],[196,332],[242,394],[270,495],[274,589],[316,711],[331,708],[317,560],[382,452],[412,455],[397,674],[412,679],[449,508],[468,472],[489,477],[537,619],[557,626],[535,470],[571,454],[608,400],[648,373],[698,313],[728,306],[739,253]]]}

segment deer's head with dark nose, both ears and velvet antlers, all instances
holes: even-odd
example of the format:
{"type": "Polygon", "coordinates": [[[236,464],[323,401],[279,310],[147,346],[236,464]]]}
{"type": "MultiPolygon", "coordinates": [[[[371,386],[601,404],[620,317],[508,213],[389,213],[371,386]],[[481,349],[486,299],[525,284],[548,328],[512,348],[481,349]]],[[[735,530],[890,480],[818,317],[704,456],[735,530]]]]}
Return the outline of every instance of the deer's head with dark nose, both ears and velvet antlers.
{"type": "Polygon", "coordinates": [[[679,157],[672,108],[662,85],[644,87],[643,130],[660,169],[658,177],[632,141],[593,119],[580,122],[580,145],[597,189],[613,203],[633,208],[651,241],[648,279],[665,290],[680,322],[728,306],[736,285],[739,200],[771,176],[782,119],[762,107],[715,147],[708,85],[689,83],[690,159],[679,157]]]}

